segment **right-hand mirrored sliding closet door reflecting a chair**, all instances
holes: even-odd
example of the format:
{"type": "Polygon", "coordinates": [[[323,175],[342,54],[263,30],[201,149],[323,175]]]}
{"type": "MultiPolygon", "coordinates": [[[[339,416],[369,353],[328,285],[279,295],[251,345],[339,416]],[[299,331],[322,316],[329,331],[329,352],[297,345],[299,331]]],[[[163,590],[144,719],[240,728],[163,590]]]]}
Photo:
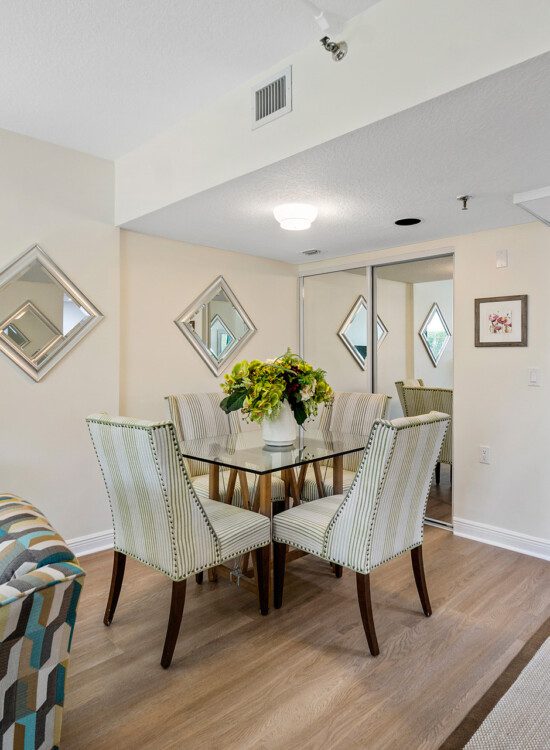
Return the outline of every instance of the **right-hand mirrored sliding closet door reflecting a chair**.
{"type": "MultiPolygon", "coordinates": [[[[379,266],[374,285],[377,313],[391,330],[375,368],[376,390],[392,396],[390,419],[432,409],[452,413],[452,256],[379,266]]],[[[426,511],[444,524],[452,523],[451,444],[449,434],[426,511]]]]}

